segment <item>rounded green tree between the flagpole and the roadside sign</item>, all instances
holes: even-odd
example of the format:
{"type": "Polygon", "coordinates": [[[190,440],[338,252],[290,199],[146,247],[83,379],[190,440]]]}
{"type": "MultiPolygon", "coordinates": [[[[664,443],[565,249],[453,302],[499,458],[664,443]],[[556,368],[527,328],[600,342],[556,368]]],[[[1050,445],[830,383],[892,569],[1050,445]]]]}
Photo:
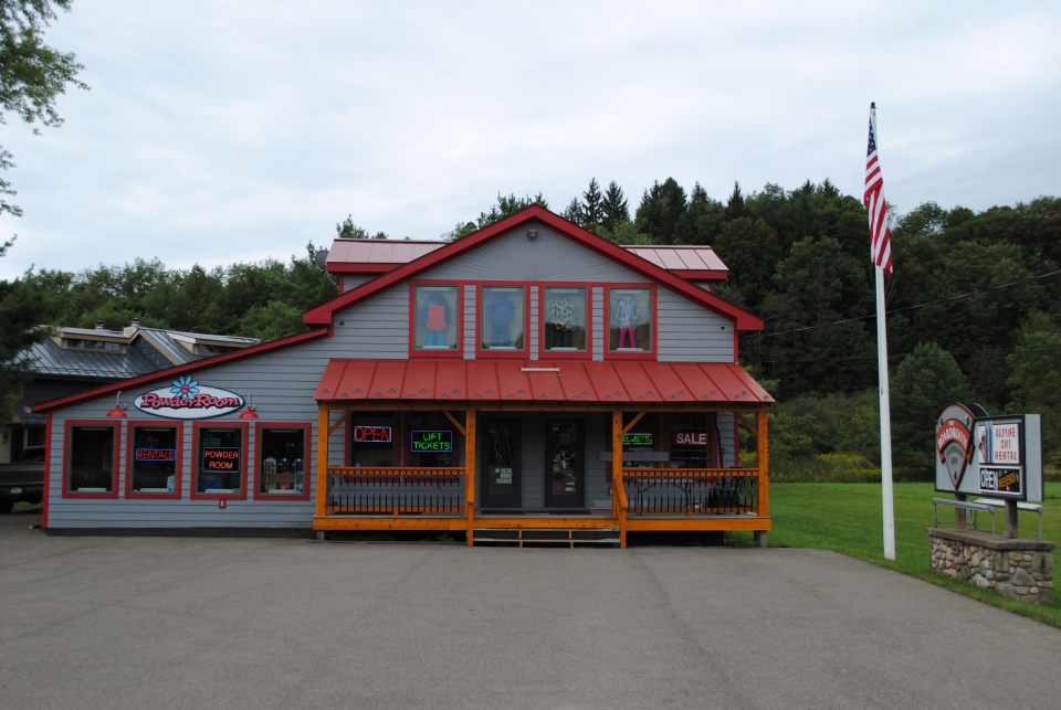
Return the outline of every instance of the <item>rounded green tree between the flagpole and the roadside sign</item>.
{"type": "Polygon", "coordinates": [[[892,446],[899,466],[929,468],[935,421],[953,402],[970,402],[965,374],[934,342],[914,348],[891,380],[892,446]]]}

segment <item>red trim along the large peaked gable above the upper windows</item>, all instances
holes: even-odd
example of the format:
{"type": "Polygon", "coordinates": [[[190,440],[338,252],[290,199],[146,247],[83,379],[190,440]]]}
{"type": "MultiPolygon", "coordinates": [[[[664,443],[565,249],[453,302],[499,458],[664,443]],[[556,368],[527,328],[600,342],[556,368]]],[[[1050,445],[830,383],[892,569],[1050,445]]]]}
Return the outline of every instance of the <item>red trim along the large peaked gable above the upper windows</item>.
{"type": "Polygon", "coordinates": [[[736,324],[737,330],[763,330],[761,318],[754,316],[743,308],[738,308],[726,300],[723,300],[718,296],[704,290],[700,286],[690,284],[681,277],[671,274],[666,269],[661,268],[660,266],[656,266],[655,264],[641,258],[640,256],[631,254],[621,246],[612,244],[611,242],[597,236],[592,232],[588,232],[582,227],[568,222],[561,216],[553,214],[539,204],[532,204],[530,206],[516,212],[510,218],[501,220],[500,222],[495,222],[494,224],[491,224],[479,232],[474,232],[462,240],[447,244],[445,246],[435,250],[430,254],[426,254],[420,258],[403,264],[398,268],[388,272],[375,278],[374,280],[364,284],[363,286],[359,286],[358,288],[342,294],[328,303],[317,306],[313,310],[306,311],[302,318],[307,325],[330,326],[333,315],[336,310],[346,308],[353,304],[364,300],[365,298],[368,298],[369,296],[385,290],[395,284],[411,278],[421,272],[448,262],[451,258],[454,258],[469,250],[475,248],[480,244],[487,242],[495,236],[503,234],[504,232],[507,232],[523,222],[535,219],[540,220],[560,234],[571,239],[575,242],[578,242],[582,246],[614,262],[618,262],[623,266],[627,266],[631,271],[644,276],[645,278],[656,282],[658,284],[661,284],[666,288],[681,294],[690,300],[710,308],[721,316],[729,318],[736,324]]]}

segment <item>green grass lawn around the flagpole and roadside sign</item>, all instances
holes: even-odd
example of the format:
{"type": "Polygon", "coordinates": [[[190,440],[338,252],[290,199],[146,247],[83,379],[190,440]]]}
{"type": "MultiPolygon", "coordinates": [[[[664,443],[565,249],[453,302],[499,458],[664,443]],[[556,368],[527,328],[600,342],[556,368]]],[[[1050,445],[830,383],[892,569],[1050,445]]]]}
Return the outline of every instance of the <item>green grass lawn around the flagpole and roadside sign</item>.
{"type": "MultiPolygon", "coordinates": [[[[884,559],[881,512],[881,486],[878,484],[773,484],[770,516],[774,530],[770,547],[819,548],[834,550],[859,560],[916,576],[958,594],[979,600],[1044,624],[1061,628],[1061,590],[1054,589],[1054,606],[1042,607],[1005,598],[994,591],[980,590],[969,582],[950,580],[928,571],[928,536],[932,527],[932,484],[895,484],[895,561],[884,559]]],[[[946,496],[941,496],[946,497],[946,496]]],[[[1061,484],[1046,484],[1042,537],[1061,541],[1061,484]]],[[[941,508],[941,523],[954,523],[954,513],[941,508]]],[[[995,513],[1001,534],[1005,517],[995,513]]],[[[990,529],[988,516],[980,517],[980,529],[990,529]]],[[[1018,522],[1023,537],[1039,534],[1038,516],[1021,512],[1018,522]]],[[[1061,562],[1058,551],[1054,560],[1061,562]]]]}

